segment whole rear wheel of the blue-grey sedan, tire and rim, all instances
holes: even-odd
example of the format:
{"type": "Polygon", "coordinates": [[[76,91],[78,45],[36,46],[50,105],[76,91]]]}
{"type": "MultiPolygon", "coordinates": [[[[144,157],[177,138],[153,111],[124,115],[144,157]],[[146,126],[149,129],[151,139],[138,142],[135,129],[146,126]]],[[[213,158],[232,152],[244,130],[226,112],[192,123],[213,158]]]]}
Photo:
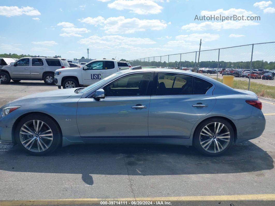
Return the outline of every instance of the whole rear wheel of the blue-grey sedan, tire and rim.
{"type": "Polygon", "coordinates": [[[193,136],[193,143],[200,153],[207,156],[219,156],[233,144],[234,131],[230,123],[221,118],[202,122],[193,136]]]}

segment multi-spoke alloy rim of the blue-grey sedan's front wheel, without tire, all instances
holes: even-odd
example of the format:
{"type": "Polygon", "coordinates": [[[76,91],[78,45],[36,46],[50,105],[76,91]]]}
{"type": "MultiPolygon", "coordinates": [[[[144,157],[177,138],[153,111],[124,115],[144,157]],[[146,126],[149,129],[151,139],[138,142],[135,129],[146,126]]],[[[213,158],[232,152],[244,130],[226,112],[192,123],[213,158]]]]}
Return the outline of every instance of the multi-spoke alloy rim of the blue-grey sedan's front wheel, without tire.
{"type": "Polygon", "coordinates": [[[32,152],[43,152],[53,142],[51,128],[41,120],[30,120],[23,124],[19,132],[23,146],[32,152]]]}

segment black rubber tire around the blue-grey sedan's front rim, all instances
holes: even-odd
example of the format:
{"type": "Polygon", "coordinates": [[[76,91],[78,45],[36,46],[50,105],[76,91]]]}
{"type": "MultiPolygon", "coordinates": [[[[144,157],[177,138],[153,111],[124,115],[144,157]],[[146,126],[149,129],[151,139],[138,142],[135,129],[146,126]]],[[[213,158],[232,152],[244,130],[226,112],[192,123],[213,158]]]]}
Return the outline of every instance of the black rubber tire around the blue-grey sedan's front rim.
{"type": "MultiPolygon", "coordinates": [[[[23,119],[21,119],[15,129],[15,140],[17,142],[17,144],[19,145],[19,147],[24,150],[25,152],[31,154],[31,155],[35,155],[35,156],[43,156],[46,154],[49,154],[51,152],[53,152],[54,150],[57,149],[57,147],[61,144],[62,142],[62,133],[61,130],[59,128],[59,126],[57,125],[56,121],[54,121],[52,118],[45,116],[45,115],[40,115],[40,114],[30,114],[26,117],[24,117],[23,119]],[[24,145],[22,144],[22,142],[20,141],[20,129],[21,127],[28,121],[31,120],[40,120],[43,121],[44,123],[46,123],[50,129],[52,130],[53,133],[53,141],[51,142],[51,145],[48,147],[48,149],[42,151],[42,152],[33,152],[28,150],[26,147],[24,147],[24,145]]],[[[34,140],[37,141],[37,140],[34,140]]],[[[38,143],[37,143],[38,144],[38,143]]]]}

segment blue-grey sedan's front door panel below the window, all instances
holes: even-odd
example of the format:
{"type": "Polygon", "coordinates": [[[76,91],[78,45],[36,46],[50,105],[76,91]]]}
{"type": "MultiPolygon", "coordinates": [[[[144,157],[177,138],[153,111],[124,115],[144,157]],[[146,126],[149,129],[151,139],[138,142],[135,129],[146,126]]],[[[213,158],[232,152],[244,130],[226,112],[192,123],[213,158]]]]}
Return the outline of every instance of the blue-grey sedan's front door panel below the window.
{"type": "Polygon", "coordinates": [[[76,114],[82,138],[148,137],[150,96],[81,98],[76,114]],[[131,108],[144,105],[147,108],[131,108]]]}

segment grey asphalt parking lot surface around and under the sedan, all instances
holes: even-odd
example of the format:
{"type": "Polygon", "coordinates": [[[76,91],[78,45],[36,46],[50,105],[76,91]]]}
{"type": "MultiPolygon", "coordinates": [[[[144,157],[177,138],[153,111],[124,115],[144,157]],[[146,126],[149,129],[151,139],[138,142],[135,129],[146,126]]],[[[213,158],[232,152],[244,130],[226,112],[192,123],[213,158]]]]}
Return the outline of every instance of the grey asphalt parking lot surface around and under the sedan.
{"type": "MultiPolygon", "coordinates": [[[[54,89],[43,81],[1,84],[0,106],[54,89]]],[[[70,145],[37,157],[0,142],[0,200],[217,196],[209,205],[229,205],[274,194],[275,102],[260,100],[266,118],[262,136],[234,145],[221,157],[202,156],[193,147],[154,144],[70,145]]]]}

